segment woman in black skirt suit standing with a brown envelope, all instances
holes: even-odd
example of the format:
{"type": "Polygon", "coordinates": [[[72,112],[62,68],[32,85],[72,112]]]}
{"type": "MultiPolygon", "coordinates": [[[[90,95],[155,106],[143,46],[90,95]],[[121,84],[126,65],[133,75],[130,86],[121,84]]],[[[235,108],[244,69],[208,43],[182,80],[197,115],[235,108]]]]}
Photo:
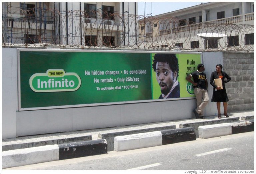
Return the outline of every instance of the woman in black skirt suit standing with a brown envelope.
{"type": "Polygon", "coordinates": [[[227,73],[222,71],[222,65],[217,64],[216,65],[216,71],[212,72],[211,74],[211,80],[210,84],[213,86],[213,94],[212,94],[212,102],[217,102],[217,110],[218,110],[218,118],[221,118],[221,113],[220,113],[220,102],[223,102],[223,107],[224,107],[224,116],[229,117],[227,114],[227,108],[228,108],[228,96],[227,96],[227,91],[225,88],[225,83],[229,82],[231,78],[227,73]],[[222,86],[223,89],[221,89],[219,86],[214,84],[214,79],[220,78],[222,81],[222,86]],[[224,80],[224,79],[227,80],[224,80]]]}

